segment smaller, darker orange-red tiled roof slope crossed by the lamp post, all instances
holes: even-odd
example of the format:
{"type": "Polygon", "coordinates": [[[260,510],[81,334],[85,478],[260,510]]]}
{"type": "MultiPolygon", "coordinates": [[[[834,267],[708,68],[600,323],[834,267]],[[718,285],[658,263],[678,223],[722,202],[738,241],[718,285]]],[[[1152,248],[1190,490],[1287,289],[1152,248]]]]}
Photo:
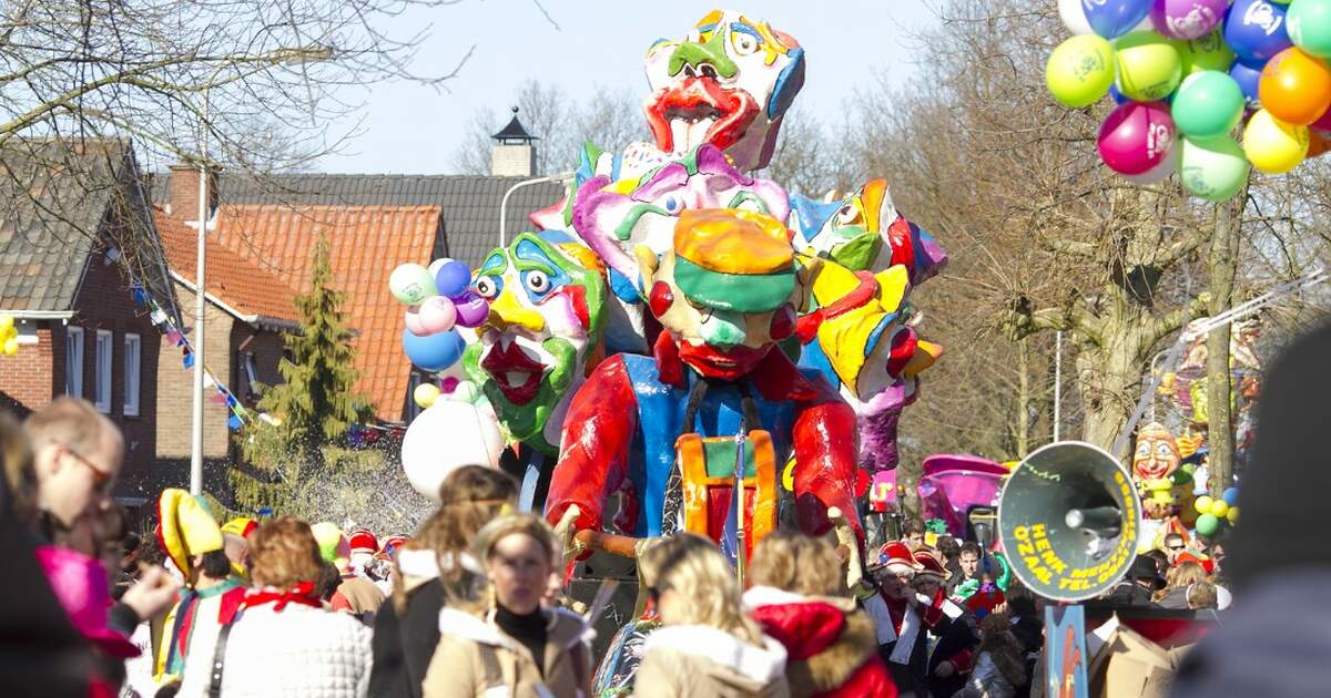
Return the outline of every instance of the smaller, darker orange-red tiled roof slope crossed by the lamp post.
{"type": "MultiPolygon", "coordinates": [[[[189,283],[194,283],[198,233],[185,221],[153,206],[153,222],[166,250],[166,263],[189,283]]],[[[208,275],[204,286],[209,295],[236,308],[242,315],[261,315],[280,320],[298,320],[291,298],[295,290],[278,275],[250,262],[214,237],[208,241],[208,275]]]]}

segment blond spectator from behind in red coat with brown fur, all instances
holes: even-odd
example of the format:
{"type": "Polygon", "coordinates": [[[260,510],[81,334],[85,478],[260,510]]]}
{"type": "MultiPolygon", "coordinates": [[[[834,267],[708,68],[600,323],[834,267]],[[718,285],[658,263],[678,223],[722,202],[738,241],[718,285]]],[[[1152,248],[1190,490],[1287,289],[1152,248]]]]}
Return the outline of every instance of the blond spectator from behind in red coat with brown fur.
{"type": "Polygon", "coordinates": [[[787,651],[792,695],[897,694],[874,651],[873,621],[847,594],[845,565],[832,544],[773,532],[753,549],[744,608],[787,651]]]}

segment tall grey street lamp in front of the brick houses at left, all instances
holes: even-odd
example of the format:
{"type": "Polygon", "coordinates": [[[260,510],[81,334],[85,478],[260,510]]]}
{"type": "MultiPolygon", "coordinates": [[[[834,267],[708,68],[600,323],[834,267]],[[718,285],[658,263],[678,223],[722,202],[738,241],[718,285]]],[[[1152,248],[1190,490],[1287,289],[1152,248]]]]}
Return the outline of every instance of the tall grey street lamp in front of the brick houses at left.
{"type": "MultiPolygon", "coordinates": [[[[273,65],[291,65],[313,62],[333,57],[331,47],[302,47],[291,49],[278,49],[262,56],[256,56],[250,62],[270,62],[273,65]]],[[[208,262],[206,233],[208,233],[208,125],[209,125],[209,92],[213,89],[213,80],[226,68],[234,68],[234,62],[222,62],[208,74],[204,81],[204,109],[198,134],[198,239],[196,241],[194,263],[194,399],[192,404],[190,421],[190,451],[189,451],[189,492],[201,495],[204,492],[204,326],[208,304],[205,303],[205,274],[208,262]]]]}

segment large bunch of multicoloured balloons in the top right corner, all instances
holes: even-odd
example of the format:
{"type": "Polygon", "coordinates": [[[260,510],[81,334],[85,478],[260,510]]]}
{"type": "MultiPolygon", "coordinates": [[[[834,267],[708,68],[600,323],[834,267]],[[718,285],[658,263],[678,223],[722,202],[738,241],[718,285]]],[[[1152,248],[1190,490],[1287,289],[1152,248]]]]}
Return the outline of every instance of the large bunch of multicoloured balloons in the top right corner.
{"type": "Polygon", "coordinates": [[[1178,172],[1225,201],[1250,166],[1283,174],[1331,148],[1331,0],[1058,0],[1058,13],[1075,36],[1049,57],[1049,92],[1070,108],[1113,97],[1099,154],[1133,182],[1178,172]]]}

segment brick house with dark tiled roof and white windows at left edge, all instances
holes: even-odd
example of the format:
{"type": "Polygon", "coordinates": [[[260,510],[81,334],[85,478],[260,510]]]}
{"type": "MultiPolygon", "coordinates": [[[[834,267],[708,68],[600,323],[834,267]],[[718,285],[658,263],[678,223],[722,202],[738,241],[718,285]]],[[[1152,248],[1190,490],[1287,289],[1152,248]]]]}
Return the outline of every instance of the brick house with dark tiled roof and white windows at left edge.
{"type": "Polygon", "coordinates": [[[16,138],[0,153],[0,312],[20,332],[19,354],[0,358],[0,408],[93,403],[125,436],[116,496],[129,505],[157,492],[161,343],[134,296],[176,314],[141,181],[120,141],[16,138]]]}

